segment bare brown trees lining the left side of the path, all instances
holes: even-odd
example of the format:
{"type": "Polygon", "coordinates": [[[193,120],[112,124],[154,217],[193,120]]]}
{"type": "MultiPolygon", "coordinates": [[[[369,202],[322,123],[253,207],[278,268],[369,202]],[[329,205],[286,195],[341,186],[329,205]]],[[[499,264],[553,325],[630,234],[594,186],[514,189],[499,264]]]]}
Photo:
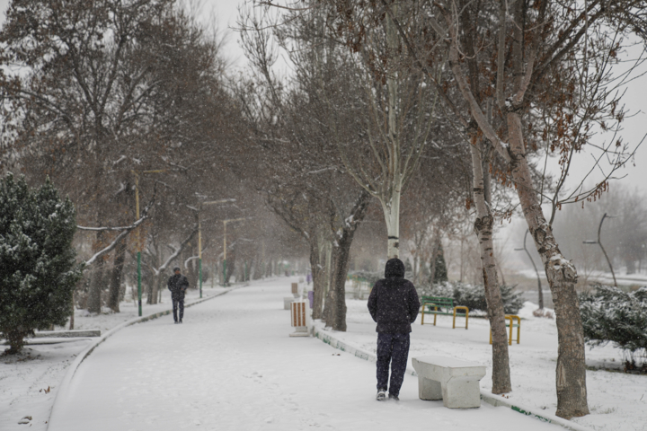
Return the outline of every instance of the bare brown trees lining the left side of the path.
{"type": "Polygon", "coordinates": [[[182,4],[17,0],[0,40],[2,168],[26,173],[31,184],[49,178],[75,203],[78,224],[92,228],[76,235],[80,255],[93,258],[76,289],[78,306],[119,312],[125,276],[136,281],[137,251],[148,303],[172,264],[195,282],[199,217],[211,263],[222,255],[218,222],[256,216],[229,226],[228,277],[236,259],[261,274],[268,267],[261,260],[295,249],[229,169],[242,123],[220,40],[182,4]],[[132,229],[136,194],[145,220],[132,229]],[[200,206],[223,198],[222,206],[200,206]],[[128,229],[109,229],[118,226],[128,229]],[[263,255],[243,226],[259,244],[288,247],[263,255]]]}

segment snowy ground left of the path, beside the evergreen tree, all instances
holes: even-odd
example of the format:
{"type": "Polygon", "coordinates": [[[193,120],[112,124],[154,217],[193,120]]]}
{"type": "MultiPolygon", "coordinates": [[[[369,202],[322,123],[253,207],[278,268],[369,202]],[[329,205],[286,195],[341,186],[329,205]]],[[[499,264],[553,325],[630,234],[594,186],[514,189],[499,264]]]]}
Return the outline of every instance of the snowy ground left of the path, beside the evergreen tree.
{"type": "MultiPolygon", "coordinates": [[[[215,295],[223,290],[224,288],[221,287],[204,287],[203,297],[215,295]]],[[[144,303],[143,315],[171,308],[171,293],[164,291],[162,295],[162,303],[155,305],[144,303]]],[[[199,299],[198,290],[187,292],[187,303],[197,299],[199,299]]],[[[191,308],[187,309],[187,312],[190,310],[191,308]]],[[[114,313],[106,310],[102,314],[90,314],[85,310],[76,310],[75,329],[98,329],[103,333],[124,321],[137,317],[137,306],[133,302],[120,303],[120,311],[114,313]]],[[[169,317],[166,319],[168,320],[169,317]]],[[[47,429],[49,412],[67,367],[74,361],[75,356],[92,342],[91,339],[32,339],[31,341],[56,344],[32,344],[24,347],[19,356],[0,356],[0,430],[2,431],[25,427],[30,427],[30,430],[34,431],[47,429]],[[24,423],[19,424],[21,421],[24,423]]],[[[0,346],[0,352],[4,348],[6,347],[0,346]]]]}

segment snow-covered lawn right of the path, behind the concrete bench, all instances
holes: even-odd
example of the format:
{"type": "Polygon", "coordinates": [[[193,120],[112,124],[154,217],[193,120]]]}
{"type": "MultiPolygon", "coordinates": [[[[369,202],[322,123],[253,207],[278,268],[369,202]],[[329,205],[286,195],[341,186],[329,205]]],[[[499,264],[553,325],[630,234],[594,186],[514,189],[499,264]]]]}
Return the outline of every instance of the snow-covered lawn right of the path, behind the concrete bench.
{"type": "MultiPolygon", "coordinates": [[[[348,331],[331,332],[337,339],[375,354],[375,323],[368,314],[366,301],[349,300],[347,304],[348,331]]],[[[510,346],[510,401],[554,414],[557,407],[557,328],[554,320],[532,315],[532,311],[536,310],[535,304],[525,305],[519,312],[523,318],[521,343],[516,343],[515,330],[510,346]]],[[[461,325],[465,326],[465,320],[456,319],[456,330],[452,330],[451,316],[439,316],[436,327],[427,324],[433,321],[429,317],[426,316],[424,326],[420,324],[420,316],[413,325],[410,359],[414,356],[443,355],[480,362],[488,369],[481,387],[491,390],[492,347],[489,344],[488,321],[470,319],[469,330],[465,330],[460,328],[461,325]]],[[[591,368],[619,368],[624,359],[622,351],[610,345],[592,349],[587,347],[587,365],[591,368]]],[[[587,372],[587,388],[591,414],[575,418],[574,422],[599,430],[647,430],[647,375],[591,369],[587,372]]]]}

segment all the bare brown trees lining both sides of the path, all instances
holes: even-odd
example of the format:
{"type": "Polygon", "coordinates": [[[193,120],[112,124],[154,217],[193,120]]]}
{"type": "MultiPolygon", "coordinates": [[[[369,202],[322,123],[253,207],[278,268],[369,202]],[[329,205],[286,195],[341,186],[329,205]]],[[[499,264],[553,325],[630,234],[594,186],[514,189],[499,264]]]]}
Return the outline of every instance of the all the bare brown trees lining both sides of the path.
{"type": "Polygon", "coordinates": [[[19,68],[0,82],[3,168],[33,183],[49,176],[94,226],[78,238],[93,256],[85,306],[100,311],[107,291],[119,311],[137,251],[154,303],[173,259],[196,268],[199,226],[213,262],[224,251],[216,221],[244,219],[227,266],[244,259],[261,274],[270,259],[309,252],[314,317],[346,330],[350,248],[365,219],[384,220],[387,258],[410,243],[419,275],[428,263],[435,272],[441,238],[471,217],[492,391],[507,392],[492,236],[495,217],[518,206],[554,297],[557,414],[587,414],[578,276],[552,225],[564,204],[598,198],[633,154],[616,139],[598,145],[604,179],[565,192],[594,128],[617,131],[624,119],[611,66],[623,37],[644,27],[644,2],[307,0],[279,14],[256,3],[241,15],[250,68],[236,78],[172,0],[10,5],[0,60],[19,68]],[[278,48],[294,74],[275,73],[278,48]],[[145,210],[132,224],[136,194],[145,210]]]}

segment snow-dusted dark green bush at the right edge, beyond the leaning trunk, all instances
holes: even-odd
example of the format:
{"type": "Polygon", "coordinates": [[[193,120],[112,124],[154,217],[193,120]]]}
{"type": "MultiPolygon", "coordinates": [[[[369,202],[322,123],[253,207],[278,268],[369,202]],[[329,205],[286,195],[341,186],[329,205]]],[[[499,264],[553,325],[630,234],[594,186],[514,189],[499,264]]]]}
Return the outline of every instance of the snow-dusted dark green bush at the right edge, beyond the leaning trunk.
{"type": "Polygon", "coordinates": [[[614,343],[632,355],[647,355],[647,287],[625,293],[614,286],[596,286],[580,295],[584,338],[591,346],[614,343]]]}

